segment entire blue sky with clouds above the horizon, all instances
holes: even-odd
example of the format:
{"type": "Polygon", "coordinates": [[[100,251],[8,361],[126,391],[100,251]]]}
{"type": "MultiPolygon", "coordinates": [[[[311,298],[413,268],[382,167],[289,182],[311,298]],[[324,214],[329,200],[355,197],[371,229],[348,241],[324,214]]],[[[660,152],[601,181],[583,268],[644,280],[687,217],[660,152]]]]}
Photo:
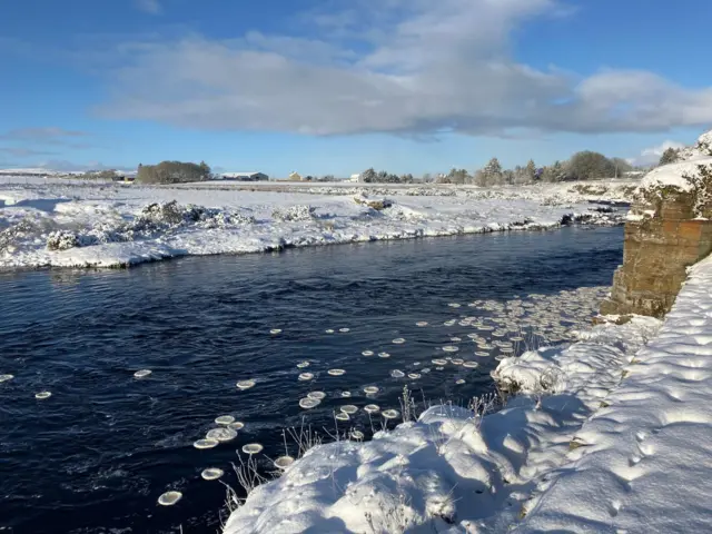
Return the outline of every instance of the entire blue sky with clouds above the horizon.
{"type": "Polygon", "coordinates": [[[712,128],[712,2],[0,2],[0,168],[637,165],[712,128]]]}

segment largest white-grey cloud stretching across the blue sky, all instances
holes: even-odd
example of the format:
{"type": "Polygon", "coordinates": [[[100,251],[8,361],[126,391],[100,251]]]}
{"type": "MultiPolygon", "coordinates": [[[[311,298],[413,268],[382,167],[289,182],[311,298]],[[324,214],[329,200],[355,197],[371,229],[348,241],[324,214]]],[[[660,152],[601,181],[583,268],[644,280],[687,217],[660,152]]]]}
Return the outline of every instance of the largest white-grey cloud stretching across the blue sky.
{"type": "MultiPolygon", "coordinates": [[[[128,43],[98,111],[202,129],[309,135],[442,130],[662,131],[712,122],[712,89],[645,71],[581,79],[511,53],[512,33],[557,0],[354,0],[313,12],[309,39],[249,32],[128,43]]],[[[333,6],[329,2],[330,6],[333,6]]]]}

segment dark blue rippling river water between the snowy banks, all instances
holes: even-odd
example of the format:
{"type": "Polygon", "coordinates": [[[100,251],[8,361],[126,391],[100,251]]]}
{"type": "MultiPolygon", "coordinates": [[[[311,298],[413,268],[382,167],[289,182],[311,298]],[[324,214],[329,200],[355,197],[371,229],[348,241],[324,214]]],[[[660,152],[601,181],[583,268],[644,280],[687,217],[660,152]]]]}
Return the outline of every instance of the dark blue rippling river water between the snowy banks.
{"type": "MultiPolygon", "coordinates": [[[[332,411],[345,402],[366,404],[365,385],[382,388],[382,407],[397,408],[404,380],[389,370],[429,365],[457,335],[415,322],[442,325],[457,316],[452,301],[609,285],[621,256],[621,228],[565,228],[2,274],[0,374],[16,378],[0,384],[0,531],[215,532],[225,491],[201,469],[228,472],[250,442],[283,454],[279,429],[299,424],[307,392],[329,394],[307,414],[316,427],[333,427],[332,411]],[[406,344],[393,345],[396,337],[406,344]],[[364,349],[392,357],[364,358],[364,349]],[[297,382],[305,359],[314,384],[297,382]],[[327,376],[333,367],[346,374],[327,376]],[[135,379],[141,368],[152,376],[135,379]],[[258,384],[238,392],[244,378],[258,384]],[[44,389],[52,397],[37,400],[44,389]],[[354,397],[339,398],[343,389],[354,397]],[[246,423],[238,438],[195,449],[222,414],[246,423]],[[158,506],[167,490],[182,501],[158,506]]],[[[461,368],[462,386],[443,372],[413,387],[465,398],[492,387],[495,364],[461,368]]],[[[363,418],[355,425],[367,431],[363,418]]],[[[224,479],[236,484],[229,473],[224,479]]]]}

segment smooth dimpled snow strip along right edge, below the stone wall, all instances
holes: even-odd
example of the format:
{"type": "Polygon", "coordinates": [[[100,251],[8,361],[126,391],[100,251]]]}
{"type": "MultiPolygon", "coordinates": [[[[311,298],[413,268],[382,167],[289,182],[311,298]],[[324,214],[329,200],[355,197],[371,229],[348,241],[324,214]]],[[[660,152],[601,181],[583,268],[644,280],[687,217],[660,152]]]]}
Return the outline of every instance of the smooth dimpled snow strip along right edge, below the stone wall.
{"type": "Polygon", "coordinates": [[[660,335],[515,532],[712,532],[710,287],[712,258],[692,268],[660,335]]]}

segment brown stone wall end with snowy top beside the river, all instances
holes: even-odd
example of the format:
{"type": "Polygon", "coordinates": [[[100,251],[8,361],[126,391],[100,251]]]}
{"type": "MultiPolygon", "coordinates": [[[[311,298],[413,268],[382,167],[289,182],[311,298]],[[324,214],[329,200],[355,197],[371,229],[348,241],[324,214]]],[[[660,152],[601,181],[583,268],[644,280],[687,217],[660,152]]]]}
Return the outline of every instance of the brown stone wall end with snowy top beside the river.
{"type": "MultiPolygon", "coordinates": [[[[664,192],[664,191],[663,191],[664,192]]],[[[686,267],[712,251],[712,221],[695,218],[695,197],[668,192],[641,198],[625,224],[623,265],[602,315],[662,317],[686,278],[686,267]]]]}

